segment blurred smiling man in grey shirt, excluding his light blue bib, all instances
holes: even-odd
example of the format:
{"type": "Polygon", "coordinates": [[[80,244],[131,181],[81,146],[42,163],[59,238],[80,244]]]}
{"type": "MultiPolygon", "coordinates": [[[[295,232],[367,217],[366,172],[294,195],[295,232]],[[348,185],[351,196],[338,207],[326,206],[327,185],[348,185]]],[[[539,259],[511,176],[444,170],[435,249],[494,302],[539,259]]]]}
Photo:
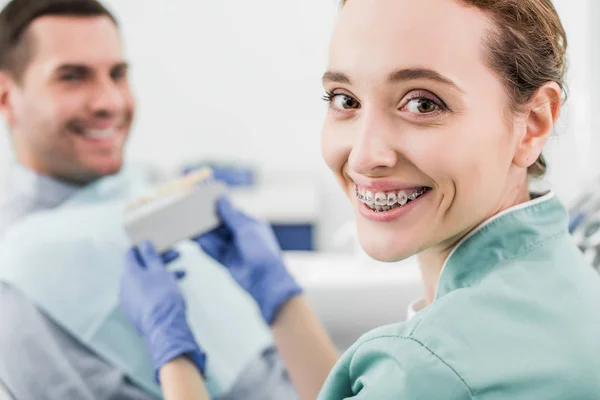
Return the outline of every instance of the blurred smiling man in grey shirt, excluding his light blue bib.
{"type": "MultiPolygon", "coordinates": [[[[121,170],[135,101],[117,21],[94,0],[11,1],[0,14],[0,71],[0,112],[18,164],[0,200],[1,243],[27,216],[121,170]]],[[[154,397],[4,282],[0,321],[0,381],[17,399],[154,397]]],[[[267,346],[224,398],[292,393],[267,346]]]]}

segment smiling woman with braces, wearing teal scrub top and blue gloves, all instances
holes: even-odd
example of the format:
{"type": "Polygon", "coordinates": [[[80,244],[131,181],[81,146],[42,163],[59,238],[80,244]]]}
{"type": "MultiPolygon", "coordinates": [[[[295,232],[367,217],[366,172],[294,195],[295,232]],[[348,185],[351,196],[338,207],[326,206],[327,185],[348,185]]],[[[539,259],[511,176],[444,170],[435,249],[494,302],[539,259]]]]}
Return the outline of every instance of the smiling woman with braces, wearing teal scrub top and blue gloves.
{"type": "MultiPolygon", "coordinates": [[[[418,255],[421,309],[331,369],[331,342],[263,224],[222,200],[223,226],[196,239],[265,311],[303,399],[600,393],[600,277],[562,203],[528,187],[560,113],[566,45],[550,0],[344,2],[323,75],[323,156],[364,250],[418,255]]],[[[140,318],[153,287],[134,273],[123,286],[147,291],[127,304],[140,318]]]]}

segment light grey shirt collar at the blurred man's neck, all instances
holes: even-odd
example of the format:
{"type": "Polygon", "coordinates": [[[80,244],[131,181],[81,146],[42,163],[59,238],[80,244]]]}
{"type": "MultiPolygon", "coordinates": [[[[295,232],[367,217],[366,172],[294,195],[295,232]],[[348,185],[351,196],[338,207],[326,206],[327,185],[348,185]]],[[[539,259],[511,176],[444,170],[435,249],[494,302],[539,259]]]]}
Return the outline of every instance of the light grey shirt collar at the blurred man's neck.
{"type": "Polygon", "coordinates": [[[42,175],[20,164],[9,169],[6,193],[12,200],[35,203],[36,208],[54,208],[81,186],[42,175]]]}

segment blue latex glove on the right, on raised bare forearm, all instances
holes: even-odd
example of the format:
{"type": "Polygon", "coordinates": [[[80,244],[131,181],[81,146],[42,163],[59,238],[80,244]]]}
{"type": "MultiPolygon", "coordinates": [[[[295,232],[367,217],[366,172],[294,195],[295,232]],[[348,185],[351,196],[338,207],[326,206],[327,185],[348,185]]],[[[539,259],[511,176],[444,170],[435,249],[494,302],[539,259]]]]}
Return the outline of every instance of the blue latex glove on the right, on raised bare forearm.
{"type": "Polygon", "coordinates": [[[270,226],[234,209],[226,197],[218,200],[217,210],[222,225],[195,241],[229,270],[271,325],[281,306],[302,289],[285,268],[270,226]]]}

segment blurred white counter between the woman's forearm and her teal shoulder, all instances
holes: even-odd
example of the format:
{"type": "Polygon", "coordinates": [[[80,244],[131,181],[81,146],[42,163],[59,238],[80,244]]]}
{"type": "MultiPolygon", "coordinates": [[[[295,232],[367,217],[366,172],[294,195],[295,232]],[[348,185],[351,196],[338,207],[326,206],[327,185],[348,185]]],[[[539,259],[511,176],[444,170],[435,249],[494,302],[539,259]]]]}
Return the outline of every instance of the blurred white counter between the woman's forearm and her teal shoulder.
{"type": "Polygon", "coordinates": [[[340,349],[404,321],[408,305],[423,296],[415,258],[379,263],[364,255],[287,252],[285,260],[340,349]]]}

